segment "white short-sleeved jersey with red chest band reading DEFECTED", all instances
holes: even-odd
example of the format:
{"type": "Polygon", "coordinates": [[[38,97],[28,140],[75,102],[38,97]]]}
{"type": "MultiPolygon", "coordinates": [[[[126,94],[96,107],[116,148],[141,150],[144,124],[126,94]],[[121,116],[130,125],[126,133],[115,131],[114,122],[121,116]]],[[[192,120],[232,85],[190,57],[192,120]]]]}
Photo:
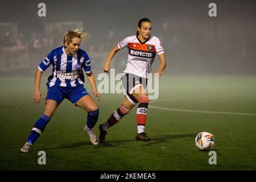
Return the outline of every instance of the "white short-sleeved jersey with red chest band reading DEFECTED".
{"type": "Polygon", "coordinates": [[[151,65],[154,62],[156,53],[164,53],[160,40],[155,36],[150,36],[144,42],[139,40],[137,35],[128,36],[118,43],[118,48],[127,47],[129,49],[127,67],[123,73],[132,73],[134,75],[147,78],[151,73],[151,65]]]}

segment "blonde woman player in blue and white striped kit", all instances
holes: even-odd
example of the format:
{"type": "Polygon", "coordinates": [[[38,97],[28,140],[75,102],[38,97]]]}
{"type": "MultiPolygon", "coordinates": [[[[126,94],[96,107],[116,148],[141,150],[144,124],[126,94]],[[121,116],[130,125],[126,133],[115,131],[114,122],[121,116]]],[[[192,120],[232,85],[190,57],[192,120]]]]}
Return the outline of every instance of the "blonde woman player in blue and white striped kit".
{"type": "Polygon", "coordinates": [[[81,40],[87,34],[81,29],[68,31],[64,36],[64,46],[53,49],[46,58],[39,64],[38,70],[35,73],[35,90],[33,95],[34,102],[40,103],[43,98],[40,92],[40,80],[42,73],[52,65],[52,75],[48,77],[46,105],[43,115],[36,121],[32,131],[27,139],[27,142],[20,149],[22,152],[28,152],[32,144],[44,131],[47,123],[50,121],[53,113],[60,103],[67,98],[74,105],[81,107],[86,112],[87,121],[84,127],[85,132],[89,135],[92,144],[97,145],[98,140],[92,131],[98,121],[99,109],[92,97],[84,88],[84,73],[90,85],[92,86],[93,94],[100,101],[100,93],[98,93],[94,75],[90,71],[90,58],[85,51],[80,49],[81,40]]]}

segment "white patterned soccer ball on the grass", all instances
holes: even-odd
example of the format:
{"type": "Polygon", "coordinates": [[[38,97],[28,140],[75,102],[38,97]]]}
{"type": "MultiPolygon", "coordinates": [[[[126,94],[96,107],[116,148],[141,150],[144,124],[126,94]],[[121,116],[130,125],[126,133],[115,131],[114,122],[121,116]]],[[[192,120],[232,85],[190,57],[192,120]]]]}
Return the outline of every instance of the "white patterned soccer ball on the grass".
{"type": "Polygon", "coordinates": [[[199,150],[209,151],[214,146],[214,137],[208,132],[201,132],[196,136],[195,142],[199,150]]]}

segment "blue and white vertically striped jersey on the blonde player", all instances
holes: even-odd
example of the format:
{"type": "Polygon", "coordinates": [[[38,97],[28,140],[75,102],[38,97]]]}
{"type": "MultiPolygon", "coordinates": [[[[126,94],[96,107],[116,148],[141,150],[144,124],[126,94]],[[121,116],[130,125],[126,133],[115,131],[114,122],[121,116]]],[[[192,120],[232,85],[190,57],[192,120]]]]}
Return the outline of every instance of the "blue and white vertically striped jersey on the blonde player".
{"type": "Polygon", "coordinates": [[[90,58],[85,51],[79,49],[75,55],[69,56],[64,46],[53,49],[39,64],[42,72],[53,65],[52,75],[48,77],[48,86],[79,86],[84,84],[84,74],[90,73],[90,58]]]}

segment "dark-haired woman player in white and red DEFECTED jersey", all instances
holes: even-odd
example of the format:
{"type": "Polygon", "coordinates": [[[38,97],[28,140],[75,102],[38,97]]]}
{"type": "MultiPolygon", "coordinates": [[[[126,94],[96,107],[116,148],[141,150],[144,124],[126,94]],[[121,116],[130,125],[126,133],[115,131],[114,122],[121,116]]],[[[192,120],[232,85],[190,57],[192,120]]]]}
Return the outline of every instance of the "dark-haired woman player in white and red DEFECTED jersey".
{"type": "Polygon", "coordinates": [[[127,67],[125,71],[123,71],[122,76],[122,84],[126,89],[126,93],[122,105],[114,111],[108,121],[99,126],[99,140],[101,143],[105,143],[106,131],[109,127],[112,127],[120,121],[120,119],[128,114],[138,102],[138,134],[135,139],[143,140],[144,142],[151,140],[146,133],[144,133],[148,107],[148,96],[145,90],[148,74],[151,73],[151,64],[154,61],[156,53],[160,59],[160,65],[158,71],[156,71],[158,77],[162,75],[162,72],[166,68],[163,46],[158,38],[151,36],[151,30],[152,24],[149,19],[143,18],[139,20],[137,34],[123,39],[109,52],[104,65],[105,72],[109,72],[109,64],[115,53],[125,47],[129,49],[127,67]]]}

